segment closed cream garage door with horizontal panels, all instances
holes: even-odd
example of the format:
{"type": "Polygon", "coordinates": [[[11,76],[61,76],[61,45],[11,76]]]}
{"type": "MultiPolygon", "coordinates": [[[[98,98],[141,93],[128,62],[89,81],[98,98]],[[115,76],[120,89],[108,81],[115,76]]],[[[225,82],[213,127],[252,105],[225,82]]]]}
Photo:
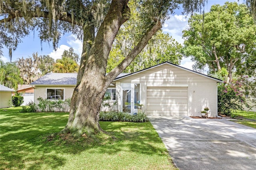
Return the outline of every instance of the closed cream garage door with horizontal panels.
{"type": "Polygon", "coordinates": [[[187,116],[187,87],[147,87],[147,115],[187,116]]]}

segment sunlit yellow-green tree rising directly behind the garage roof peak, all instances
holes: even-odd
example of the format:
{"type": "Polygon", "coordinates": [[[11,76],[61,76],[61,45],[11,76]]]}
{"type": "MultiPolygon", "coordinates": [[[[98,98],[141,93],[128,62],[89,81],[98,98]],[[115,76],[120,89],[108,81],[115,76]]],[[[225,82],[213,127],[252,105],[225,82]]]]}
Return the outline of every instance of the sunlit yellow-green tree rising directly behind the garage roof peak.
{"type": "MultiPolygon", "coordinates": [[[[120,34],[122,33],[120,32],[120,34]]],[[[122,42],[122,40],[128,41],[129,39],[128,37],[125,37],[125,35],[128,36],[127,34],[119,35],[118,38],[120,39],[116,39],[114,47],[110,51],[107,72],[116,67],[116,65],[118,65],[118,63],[125,58],[125,51],[131,48],[128,47],[129,43],[122,42]],[[125,47],[122,47],[122,45],[125,47]]],[[[182,45],[180,43],[176,42],[168,34],[164,34],[161,30],[159,30],[154,36],[152,36],[152,39],[148,42],[146,47],[144,47],[134,61],[132,61],[132,63],[126,67],[123,72],[133,73],[165,61],[180,64],[182,59],[182,55],[180,53],[181,47],[182,45]]]]}

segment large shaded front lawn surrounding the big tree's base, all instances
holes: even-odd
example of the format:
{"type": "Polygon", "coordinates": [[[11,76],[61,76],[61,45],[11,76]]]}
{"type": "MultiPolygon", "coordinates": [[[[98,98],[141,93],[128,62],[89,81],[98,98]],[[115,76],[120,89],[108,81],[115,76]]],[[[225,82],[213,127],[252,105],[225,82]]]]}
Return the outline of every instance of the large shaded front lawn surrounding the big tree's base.
{"type": "Polygon", "coordinates": [[[114,135],[77,141],[68,136],[48,140],[66,125],[68,113],[19,113],[0,109],[0,169],[176,169],[149,122],[100,122],[114,135]],[[65,138],[65,139],[64,139],[65,138]]]}

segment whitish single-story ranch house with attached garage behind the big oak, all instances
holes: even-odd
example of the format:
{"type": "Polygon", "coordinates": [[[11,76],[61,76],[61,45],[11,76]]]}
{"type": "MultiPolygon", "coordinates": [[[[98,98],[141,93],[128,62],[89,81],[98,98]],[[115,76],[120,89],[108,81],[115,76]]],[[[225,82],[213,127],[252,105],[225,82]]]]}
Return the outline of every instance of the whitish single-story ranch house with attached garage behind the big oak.
{"type": "MultiPolygon", "coordinates": [[[[48,73],[34,81],[34,101],[67,99],[76,86],[76,73],[48,73]]],[[[205,107],[208,117],[216,117],[217,86],[220,79],[165,62],[135,73],[122,73],[105,94],[113,110],[158,116],[200,116],[205,107]]],[[[105,110],[106,108],[102,108],[105,110]]]]}

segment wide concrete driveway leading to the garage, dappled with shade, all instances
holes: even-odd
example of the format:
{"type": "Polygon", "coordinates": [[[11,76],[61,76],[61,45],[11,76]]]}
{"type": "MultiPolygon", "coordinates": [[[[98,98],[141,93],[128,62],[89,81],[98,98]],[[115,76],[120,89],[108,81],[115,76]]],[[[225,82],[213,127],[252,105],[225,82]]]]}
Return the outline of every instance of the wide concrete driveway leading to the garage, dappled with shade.
{"type": "Polygon", "coordinates": [[[224,119],[149,117],[180,170],[256,170],[256,129],[224,119]]]}

